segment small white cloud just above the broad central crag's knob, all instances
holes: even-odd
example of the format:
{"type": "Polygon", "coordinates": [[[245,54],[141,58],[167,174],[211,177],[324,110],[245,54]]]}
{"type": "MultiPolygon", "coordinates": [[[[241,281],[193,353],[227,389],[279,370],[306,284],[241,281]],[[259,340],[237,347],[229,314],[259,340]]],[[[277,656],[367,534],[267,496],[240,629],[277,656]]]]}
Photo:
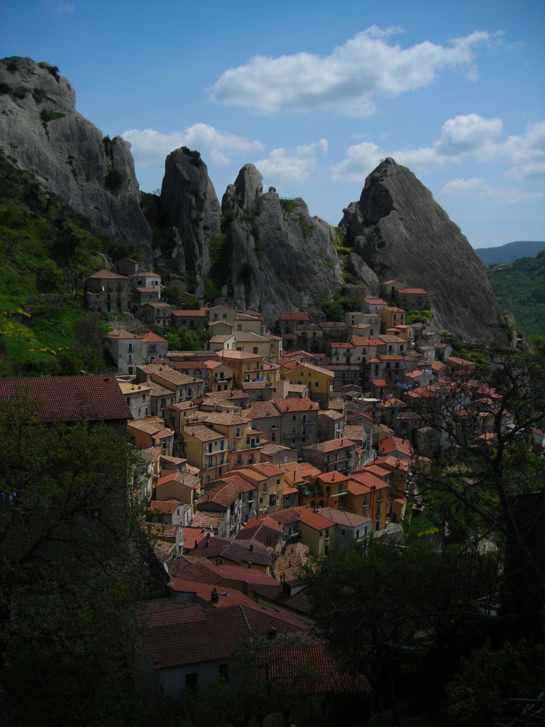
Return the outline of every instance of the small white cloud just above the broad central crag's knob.
{"type": "Polygon", "coordinates": [[[318,152],[328,150],[326,139],[313,144],[296,146],[294,149],[273,149],[265,159],[259,159],[255,166],[273,184],[300,184],[315,172],[318,166],[318,152]]]}

